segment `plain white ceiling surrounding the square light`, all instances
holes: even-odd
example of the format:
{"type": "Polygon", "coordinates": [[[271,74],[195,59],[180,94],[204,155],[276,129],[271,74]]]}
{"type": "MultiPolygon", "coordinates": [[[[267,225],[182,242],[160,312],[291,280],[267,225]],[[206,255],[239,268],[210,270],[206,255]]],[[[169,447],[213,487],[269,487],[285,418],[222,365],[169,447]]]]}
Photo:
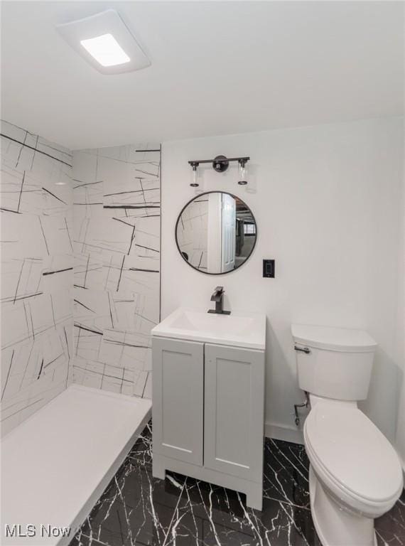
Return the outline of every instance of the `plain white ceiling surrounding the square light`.
{"type": "Polygon", "coordinates": [[[71,149],[403,114],[400,1],[3,1],[1,117],[71,149]],[[114,7],[152,61],[102,75],[55,25],[114,7]]]}

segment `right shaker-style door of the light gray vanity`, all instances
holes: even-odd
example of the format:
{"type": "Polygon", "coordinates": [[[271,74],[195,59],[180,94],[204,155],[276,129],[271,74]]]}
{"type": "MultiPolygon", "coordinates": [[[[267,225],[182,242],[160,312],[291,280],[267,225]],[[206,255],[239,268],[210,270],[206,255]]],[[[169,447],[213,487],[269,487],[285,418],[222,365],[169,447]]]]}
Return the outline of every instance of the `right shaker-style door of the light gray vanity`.
{"type": "Polygon", "coordinates": [[[264,352],[205,345],[204,466],[261,481],[264,352]]]}

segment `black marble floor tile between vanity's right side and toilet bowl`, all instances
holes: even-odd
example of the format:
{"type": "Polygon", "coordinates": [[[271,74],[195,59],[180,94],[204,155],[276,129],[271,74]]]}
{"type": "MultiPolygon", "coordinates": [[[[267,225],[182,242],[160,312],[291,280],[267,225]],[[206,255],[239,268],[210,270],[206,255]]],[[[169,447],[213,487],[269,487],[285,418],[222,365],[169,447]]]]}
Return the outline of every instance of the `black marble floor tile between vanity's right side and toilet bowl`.
{"type": "Polygon", "coordinates": [[[304,446],[266,438],[264,498],[309,509],[308,467],[304,446]]]}

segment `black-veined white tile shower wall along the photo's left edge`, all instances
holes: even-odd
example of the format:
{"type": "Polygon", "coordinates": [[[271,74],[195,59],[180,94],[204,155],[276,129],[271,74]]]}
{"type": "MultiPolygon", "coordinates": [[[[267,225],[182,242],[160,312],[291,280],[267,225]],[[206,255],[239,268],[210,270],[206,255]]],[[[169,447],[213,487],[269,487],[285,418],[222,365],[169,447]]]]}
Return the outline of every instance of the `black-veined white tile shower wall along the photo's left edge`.
{"type": "Polygon", "coordinates": [[[72,153],[1,122],[1,433],[66,388],[72,153]]]}

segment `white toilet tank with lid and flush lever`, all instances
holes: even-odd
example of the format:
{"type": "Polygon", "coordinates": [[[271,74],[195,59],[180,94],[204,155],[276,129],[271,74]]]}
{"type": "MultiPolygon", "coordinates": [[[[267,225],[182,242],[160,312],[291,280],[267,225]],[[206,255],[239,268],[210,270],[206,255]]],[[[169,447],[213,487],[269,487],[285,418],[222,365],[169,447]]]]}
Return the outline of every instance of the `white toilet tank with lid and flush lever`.
{"type": "Polygon", "coordinates": [[[291,326],[301,389],[335,400],[365,400],[377,343],[362,330],[291,326]]]}

